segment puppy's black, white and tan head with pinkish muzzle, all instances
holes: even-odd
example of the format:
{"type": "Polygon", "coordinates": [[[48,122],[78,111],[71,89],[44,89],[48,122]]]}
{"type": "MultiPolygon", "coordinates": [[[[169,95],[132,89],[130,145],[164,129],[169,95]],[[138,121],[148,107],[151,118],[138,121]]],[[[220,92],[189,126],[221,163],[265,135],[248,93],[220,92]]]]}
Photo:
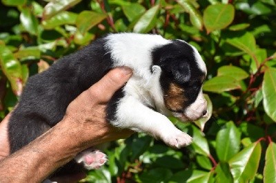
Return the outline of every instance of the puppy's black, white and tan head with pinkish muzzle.
{"type": "Polygon", "coordinates": [[[206,65],[199,52],[185,41],[173,40],[152,52],[153,65],[161,67],[160,85],[164,105],[183,121],[197,120],[207,113],[202,94],[206,65]]]}

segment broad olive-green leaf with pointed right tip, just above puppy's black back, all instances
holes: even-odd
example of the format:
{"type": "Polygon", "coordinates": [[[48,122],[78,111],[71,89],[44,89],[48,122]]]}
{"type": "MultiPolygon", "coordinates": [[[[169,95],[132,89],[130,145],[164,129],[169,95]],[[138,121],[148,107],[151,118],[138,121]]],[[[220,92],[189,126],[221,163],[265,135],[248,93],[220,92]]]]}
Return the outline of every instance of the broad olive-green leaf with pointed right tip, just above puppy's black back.
{"type": "Polygon", "coordinates": [[[82,11],[77,17],[76,25],[79,32],[81,32],[81,34],[84,34],[88,30],[90,30],[90,28],[94,27],[95,25],[103,21],[103,19],[106,19],[106,17],[107,14],[101,14],[85,10],[82,11]]]}

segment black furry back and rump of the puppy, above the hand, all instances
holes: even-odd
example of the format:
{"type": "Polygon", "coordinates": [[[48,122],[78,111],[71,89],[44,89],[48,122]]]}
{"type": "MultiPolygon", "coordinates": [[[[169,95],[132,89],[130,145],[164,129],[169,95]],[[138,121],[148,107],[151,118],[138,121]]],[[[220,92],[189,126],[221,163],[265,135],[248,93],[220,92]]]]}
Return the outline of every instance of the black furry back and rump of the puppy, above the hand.
{"type": "Polygon", "coordinates": [[[11,153],[56,125],[69,103],[111,69],[105,43],[97,39],[28,79],[8,123],[11,153]]]}

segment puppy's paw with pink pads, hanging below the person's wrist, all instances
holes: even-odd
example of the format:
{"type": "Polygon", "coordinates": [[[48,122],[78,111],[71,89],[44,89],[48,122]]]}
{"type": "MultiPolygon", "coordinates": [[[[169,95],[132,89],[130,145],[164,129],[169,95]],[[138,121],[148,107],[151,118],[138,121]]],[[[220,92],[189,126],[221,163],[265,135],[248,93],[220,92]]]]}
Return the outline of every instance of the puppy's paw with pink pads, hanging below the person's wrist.
{"type": "Polygon", "coordinates": [[[106,154],[102,153],[99,150],[95,150],[95,151],[83,151],[81,152],[79,155],[77,155],[77,157],[75,158],[75,160],[78,163],[83,163],[83,166],[88,169],[99,169],[101,168],[101,166],[103,166],[103,164],[106,163],[106,161],[108,160],[106,154]]]}

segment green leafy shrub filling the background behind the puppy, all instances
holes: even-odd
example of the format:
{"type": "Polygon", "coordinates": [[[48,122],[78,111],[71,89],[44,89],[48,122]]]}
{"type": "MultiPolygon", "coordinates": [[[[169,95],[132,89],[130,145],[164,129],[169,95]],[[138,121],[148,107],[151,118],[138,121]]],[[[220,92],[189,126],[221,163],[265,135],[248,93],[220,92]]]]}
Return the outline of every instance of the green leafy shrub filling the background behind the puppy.
{"type": "Polygon", "coordinates": [[[276,182],[274,0],[1,0],[0,14],[0,118],[28,77],[108,32],[183,39],[204,58],[212,116],[171,118],[193,144],[135,134],[113,143],[87,182],[276,182]]]}

